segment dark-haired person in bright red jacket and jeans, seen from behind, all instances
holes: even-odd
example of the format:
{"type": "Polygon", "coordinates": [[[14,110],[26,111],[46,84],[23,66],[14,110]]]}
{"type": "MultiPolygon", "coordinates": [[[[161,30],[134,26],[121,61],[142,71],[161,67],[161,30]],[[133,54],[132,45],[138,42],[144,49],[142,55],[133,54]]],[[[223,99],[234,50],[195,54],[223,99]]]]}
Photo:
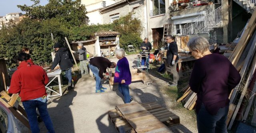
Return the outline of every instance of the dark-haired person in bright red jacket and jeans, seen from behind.
{"type": "Polygon", "coordinates": [[[47,111],[47,93],[45,85],[48,83],[48,76],[44,69],[34,65],[27,53],[18,54],[18,70],[12,75],[11,85],[8,92],[18,93],[24,106],[32,133],[39,133],[36,108],[49,133],[54,133],[52,120],[47,111]]]}

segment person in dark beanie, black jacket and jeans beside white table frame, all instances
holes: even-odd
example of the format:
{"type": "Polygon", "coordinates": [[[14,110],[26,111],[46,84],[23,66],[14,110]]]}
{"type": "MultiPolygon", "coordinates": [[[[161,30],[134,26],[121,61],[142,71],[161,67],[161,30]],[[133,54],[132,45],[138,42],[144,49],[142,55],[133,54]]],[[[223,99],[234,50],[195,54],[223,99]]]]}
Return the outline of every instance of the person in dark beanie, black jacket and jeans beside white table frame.
{"type": "Polygon", "coordinates": [[[60,69],[66,73],[66,78],[68,78],[68,90],[72,89],[72,73],[71,68],[73,66],[68,50],[63,48],[60,43],[56,43],[54,46],[54,50],[57,52],[52,63],[51,69],[53,70],[55,66],[60,65],[60,69]]]}

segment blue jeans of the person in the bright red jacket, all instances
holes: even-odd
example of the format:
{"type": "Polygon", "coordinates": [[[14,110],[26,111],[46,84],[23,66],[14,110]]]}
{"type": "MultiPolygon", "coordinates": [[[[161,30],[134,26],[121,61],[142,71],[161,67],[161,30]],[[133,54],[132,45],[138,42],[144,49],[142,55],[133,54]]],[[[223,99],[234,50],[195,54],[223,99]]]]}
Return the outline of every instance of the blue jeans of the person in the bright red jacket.
{"type": "Polygon", "coordinates": [[[36,98],[33,100],[28,100],[22,102],[26,114],[28,115],[28,122],[31,128],[32,133],[39,133],[40,129],[38,127],[37,122],[37,113],[36,108],[38,109],[42,120],[44,121],[44,125],[48,129],[48,133],[55,133],[52,120],[47,111],[47,100],[46,98],[36,98]]]}

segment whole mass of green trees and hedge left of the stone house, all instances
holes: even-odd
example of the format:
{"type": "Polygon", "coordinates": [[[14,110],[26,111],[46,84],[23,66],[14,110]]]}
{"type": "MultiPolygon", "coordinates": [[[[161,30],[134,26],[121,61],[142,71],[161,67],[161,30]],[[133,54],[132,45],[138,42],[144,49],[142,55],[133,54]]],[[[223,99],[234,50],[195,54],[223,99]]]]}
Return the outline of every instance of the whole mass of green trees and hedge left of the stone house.
{"type": "Polygon", "coordinates": [[[142,39],[140,20],[132,18],[132,14],[121,17],[113,23],[104,25],[87,25],[86,10],[80,0],[50,0],[46,6],[38,6],[39,0],[32,6],[18,6],[27,12],[18,24],[3,27],[0,30],[0,58],[7,58],[8,67],[16,67],[16,56],[22,47],[28,47],[35,64],[52,63],[51,52],[54,43],[68,41],[85,41],[94,38],[98,31],[118,31],[120,46],[127,45],[139,48],[142,39]],[[52,40],[51,33],[54,40],[52,40]]]}

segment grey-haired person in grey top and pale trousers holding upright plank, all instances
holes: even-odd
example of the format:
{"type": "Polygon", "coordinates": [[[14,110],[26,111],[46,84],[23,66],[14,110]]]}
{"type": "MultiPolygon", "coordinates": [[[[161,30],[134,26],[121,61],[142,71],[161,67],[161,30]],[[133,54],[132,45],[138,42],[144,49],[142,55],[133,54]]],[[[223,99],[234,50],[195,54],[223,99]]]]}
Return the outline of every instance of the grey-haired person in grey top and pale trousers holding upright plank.
{"type": "Polygon", "coordinates": [[[78,51],[72,51],[72,53],[79,54],[79,61],[80,61],[80,71],[81,75],[88,74],[88,64],[86,59],[86,48],[84,47],[83,43],[78,43],[78,51]]]}

